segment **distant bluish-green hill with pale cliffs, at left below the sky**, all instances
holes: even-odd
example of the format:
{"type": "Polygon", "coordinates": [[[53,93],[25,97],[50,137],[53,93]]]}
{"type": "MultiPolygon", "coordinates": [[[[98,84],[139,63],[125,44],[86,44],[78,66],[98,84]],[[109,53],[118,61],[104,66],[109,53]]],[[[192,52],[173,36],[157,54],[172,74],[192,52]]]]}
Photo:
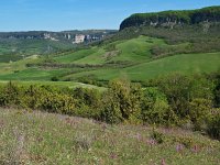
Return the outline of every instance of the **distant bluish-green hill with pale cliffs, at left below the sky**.
{"type": "Polygon", "coordinates": [[[88,44],[116,32],[114,30],[0,32],[0,62],[73,50],[78,46],[74,44],[77,34],[85,35],[85,44],[88,44]]]}

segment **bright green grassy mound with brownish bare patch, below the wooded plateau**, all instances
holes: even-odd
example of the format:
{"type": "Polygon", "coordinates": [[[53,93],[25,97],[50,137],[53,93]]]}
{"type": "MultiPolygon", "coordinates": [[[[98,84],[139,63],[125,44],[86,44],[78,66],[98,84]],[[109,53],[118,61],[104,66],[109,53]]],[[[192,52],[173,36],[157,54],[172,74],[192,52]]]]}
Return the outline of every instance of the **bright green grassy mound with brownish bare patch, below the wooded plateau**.
{"type": "Polygon", "coordinates": [[[140,36],[128,41],[118,41],[102,47],[91,47],[62,55],[54,59],[61,63],[102,64],[108,61],[145,62],[151,58],[153,45],[165,44],[163,40],[140,36]]]}

